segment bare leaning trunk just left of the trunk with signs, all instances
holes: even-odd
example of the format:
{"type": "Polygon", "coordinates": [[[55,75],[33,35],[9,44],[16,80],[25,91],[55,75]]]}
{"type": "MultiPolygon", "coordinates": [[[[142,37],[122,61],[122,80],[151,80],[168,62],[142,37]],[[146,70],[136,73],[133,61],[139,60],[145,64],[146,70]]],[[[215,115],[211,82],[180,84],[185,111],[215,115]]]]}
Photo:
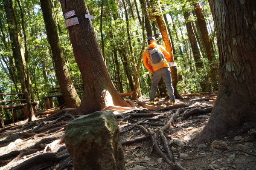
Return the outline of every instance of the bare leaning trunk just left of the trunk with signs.
{"type": "Polygon", "coordinates": [[[52,7],[50,0],[40,0],[41,9],[44,15],[44,23],[47,32],[47,37],[52,50],[52,58],[54,60],[56,77],[63,94],[65,105],[67,108],[78,108],[81,100],[76,93],[76,89],[70,78],[63,52],[61,50],[61,43],[58,39],[58,32],[55,20],[52,17],[52,7]]]}

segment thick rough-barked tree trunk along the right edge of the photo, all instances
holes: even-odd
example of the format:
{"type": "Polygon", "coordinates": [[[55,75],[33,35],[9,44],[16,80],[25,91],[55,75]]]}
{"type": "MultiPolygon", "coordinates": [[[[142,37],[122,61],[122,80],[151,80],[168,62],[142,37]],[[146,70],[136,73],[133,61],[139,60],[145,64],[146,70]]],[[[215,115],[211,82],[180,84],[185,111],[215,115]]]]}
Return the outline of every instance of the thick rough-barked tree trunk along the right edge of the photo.
{"type": "Polygon", "coordinates": [[[256,122],[255,0],[211,0],[220,57],[218,96],[197,143],[256,122]]]}

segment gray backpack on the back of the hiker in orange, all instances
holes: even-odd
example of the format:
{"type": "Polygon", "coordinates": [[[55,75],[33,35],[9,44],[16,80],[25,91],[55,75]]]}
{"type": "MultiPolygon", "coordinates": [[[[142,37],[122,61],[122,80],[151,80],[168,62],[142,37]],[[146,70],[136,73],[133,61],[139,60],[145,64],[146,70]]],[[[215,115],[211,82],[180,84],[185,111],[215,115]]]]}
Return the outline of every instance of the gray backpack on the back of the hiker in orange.
{"type": "Polygon", "coordinates": [[[162,51],[160,51],[157,46],[153,49],[148,49],[147,51],[149,55],[149,61],[153,68],[158,68],[163,65],[165,57],[162,51]]]}

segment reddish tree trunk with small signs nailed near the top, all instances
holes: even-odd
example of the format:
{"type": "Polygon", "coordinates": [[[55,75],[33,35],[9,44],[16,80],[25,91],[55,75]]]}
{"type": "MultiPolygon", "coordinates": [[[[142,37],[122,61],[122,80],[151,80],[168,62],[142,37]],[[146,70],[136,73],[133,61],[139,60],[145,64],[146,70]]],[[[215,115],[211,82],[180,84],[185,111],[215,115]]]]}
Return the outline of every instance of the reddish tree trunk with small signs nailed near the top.
{"type": "Polygon", "coordinates": [[[61,0],[63,14],[74,10],[79,24],[69,26],[68,31],[74,56],[84,81],[84,96],[78,114],[100,111],[108,105],[130,106],[119,96],[111,82],[99,49],[93,24],[84,14],[90,14],[84,0],[61,0]]]}

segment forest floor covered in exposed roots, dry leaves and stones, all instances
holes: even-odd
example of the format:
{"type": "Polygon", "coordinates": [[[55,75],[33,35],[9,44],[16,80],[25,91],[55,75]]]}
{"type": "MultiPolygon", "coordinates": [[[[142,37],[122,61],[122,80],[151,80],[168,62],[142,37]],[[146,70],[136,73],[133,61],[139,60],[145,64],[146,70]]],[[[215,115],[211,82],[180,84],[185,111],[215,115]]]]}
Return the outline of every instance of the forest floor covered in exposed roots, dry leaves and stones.
{"type": "MultiPolygon", "coordinates": [[[[177,100],[175,105],[186,105],[186,108],[214,105],[204,100],[196,101],[202,98],[207,98],[207,95],[184,96],[185,100],[177,100]]],[[[184,112],[183,106],[181,109],[184,113],[176,114],[170,123],[174,113],[180,111],[179,108],[172,109],[164,99],[159,99],[155,105],[166,106],[168,109],[141,109],[118,116],[127,170],[170,170],[170,164],[153,147],[150,135],[143,133],[143,128],[138,126],[156,133],[157,145],[167,156],[159,131],[168,124],[164,136],[172,156],[167,159],[174,160],[185,170],[256,170],[255,126],[244,125],[242,129],[231,131],[215,141],[195,145],[193,141],[204,128],[210,113],[184,116],[186,111],[184,112]],[[145,115],[134,116],[140,113],[145,115]],[[142,136],[145,137],[140,140],[142,136]],[[131,141],[133,139],[138,141],[131,141]]],[[[57,116],[44,115],[35,122],[21,121],[15,126],[0,129],[0,170],[72,170],[73,163],[64,144],[67,122],[78,117],[71,114],[72,111],[64,109],[57,116]]]]}

